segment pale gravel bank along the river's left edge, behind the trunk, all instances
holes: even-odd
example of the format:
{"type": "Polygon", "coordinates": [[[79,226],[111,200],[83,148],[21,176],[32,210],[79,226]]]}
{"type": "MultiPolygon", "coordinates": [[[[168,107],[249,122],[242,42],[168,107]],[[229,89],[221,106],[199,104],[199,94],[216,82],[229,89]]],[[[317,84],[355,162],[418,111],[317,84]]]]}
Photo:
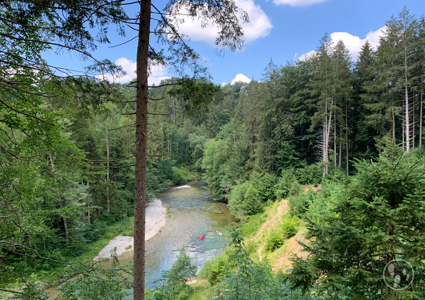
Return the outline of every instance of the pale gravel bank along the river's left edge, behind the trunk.
{"type": "MultiPolygon", "coordinates": [[[[166,209],[162,205],[161,200],[153,199],[146,206],[146,225],[144,240],[149,240],[155,236],[159,230],[165,225],[166,209]]],[[[133,237],[118,235],[109,240],[109,243],[100,250],[93,260],[99,258],[110,257],[111,250],[116,247],[116,255],[133,250],[133,237]],[[129,247],[131,245],[131,247],[129,247]],[[128,249],[126,249],[128,247],[128,249]]]]}

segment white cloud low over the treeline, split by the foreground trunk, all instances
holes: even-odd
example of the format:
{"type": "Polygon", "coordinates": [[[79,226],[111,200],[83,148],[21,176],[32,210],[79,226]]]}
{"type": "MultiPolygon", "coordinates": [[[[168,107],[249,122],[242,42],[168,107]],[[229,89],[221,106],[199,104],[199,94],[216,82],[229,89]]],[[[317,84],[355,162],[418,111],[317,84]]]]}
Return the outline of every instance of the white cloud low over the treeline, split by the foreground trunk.
{"type": "MultiPolygon", "coordinates": [[[[131,59],[128,59],[126,57],[119,57],[115,60],[115,64],[121,65],[122,69],[126,72],[125,76],[119,77],[116,75],[111,74],[100,74],[96,75],[97,78],[105,78],[109,81],[117,82],[117,83],[125,83],[128,81],[131,81],[136,77],[135,69],[136,69],[136,62],[132,61],[131,59]]],[[[162,79],[167,79],[169,76],[166,76],[167,71],[163,65],[152,65],[150,68],[150,74],[148,77],[148,84],[159,84],[159,82],[162,79]]]]}

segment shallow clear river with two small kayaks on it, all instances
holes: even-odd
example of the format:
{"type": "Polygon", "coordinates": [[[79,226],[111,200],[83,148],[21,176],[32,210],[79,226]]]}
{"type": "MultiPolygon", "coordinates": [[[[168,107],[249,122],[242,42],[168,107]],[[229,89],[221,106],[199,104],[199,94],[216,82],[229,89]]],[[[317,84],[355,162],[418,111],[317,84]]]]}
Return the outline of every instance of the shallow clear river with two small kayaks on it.
{"type": "MultiPolygon", "coordinates": [[[[223,251],[229,242],[231,223],[236,222],[227,205],[215,200],[203,182],[192,181],[180,186],[169,187],[159,195],[162,204],[169,207],[171,217],[161,232],[146,241],[146,287],[158,284],[154,281],[171,266],[180,248],[184,248],[198,270],[201,269],[205,261],[223,251]],[[221,230],[222,235],[218,235],[217,230],[221,230]],[[198,238],[201,234],[205,234],[202,240],[198,238]]],[[[118,259],[131,261],[132,251],[118,259]]]]}

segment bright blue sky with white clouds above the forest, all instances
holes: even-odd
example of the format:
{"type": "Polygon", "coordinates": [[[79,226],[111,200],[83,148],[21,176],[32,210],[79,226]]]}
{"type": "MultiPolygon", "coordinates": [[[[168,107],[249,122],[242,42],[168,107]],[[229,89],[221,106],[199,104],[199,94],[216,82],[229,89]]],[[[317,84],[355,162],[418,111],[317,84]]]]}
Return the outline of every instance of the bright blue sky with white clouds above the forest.
{"type": "MultiPolygon", "coordinates": [[[[156,3],[152,0],[152,3],[159,7],[165,4],[163,0],[156,3]]],[[[377,43],[385,20],[397,14],[404,4],[416,17],[425,14],[423,0],[236,0],[236,3],[248,12],[251,20],[242,25],[247,39],[242,50],[227,50],[217,56],[212,44],[213,27],[201,29],[197,20],[190,19],[180,25],[180,31],[191,36],[189,44],[204,59],[212,81],[217,84],[251,78],[260,80],[270,58],[278,65],[302,59],[302,54],[317,47],[325,32],[335,42],[342,39],[355,57],[366,38],[372,44],[377,43]]],[[[125,40],[115,36],[112,27],[109,31],[112,44],[125,40]]],[[[128,38],[135,35],[131,31],[128,31],[128,38]]],[[[93,54],[123,66],[127,76],[119,79],[121,83],[134,77],[135,40],[113,48],[100,45],[93,54]]],[[[60,55],[52,51],[45,57],[49,62],[73,69],[82,69],[87,64],[66,51],[60,55]]],[[[157,84],[160,79],[174,75],[166,66],[153,67],[152,72],[149,83],[157,84]]]]}

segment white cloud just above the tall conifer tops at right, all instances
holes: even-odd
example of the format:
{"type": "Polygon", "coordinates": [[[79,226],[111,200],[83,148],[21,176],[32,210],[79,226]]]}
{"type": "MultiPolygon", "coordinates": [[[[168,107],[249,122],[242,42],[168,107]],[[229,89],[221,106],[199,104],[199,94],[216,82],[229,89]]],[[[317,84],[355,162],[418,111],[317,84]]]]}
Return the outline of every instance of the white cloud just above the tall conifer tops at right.
{"type": "MultiPolygon", "coordinates": [[[[352,35],[348,32],[332,32],[330,33],[330,39],[333,42],[333,45],[336,45],[336,43],[339,40],[342,40],[345,47],[348,49],[349,54],[351,55],[351,58],[355,60],[358,56],[358,53],[361,50],[361,47],[364,45],[366,41],[369,41],[370,45],[373,49],[376,49],[377,45],[379,44],[379,38],[384,35],[385,32],[385,26],[380,27],[377,30],[369,31],[366,33],[365,38],[360,38],[356,35],[352,35]]],[[[307,56],[314,53],[314,50],[311,50],[307,53],[302,54],[299,56],[299,60],[304,60],[307,56]]]]}

